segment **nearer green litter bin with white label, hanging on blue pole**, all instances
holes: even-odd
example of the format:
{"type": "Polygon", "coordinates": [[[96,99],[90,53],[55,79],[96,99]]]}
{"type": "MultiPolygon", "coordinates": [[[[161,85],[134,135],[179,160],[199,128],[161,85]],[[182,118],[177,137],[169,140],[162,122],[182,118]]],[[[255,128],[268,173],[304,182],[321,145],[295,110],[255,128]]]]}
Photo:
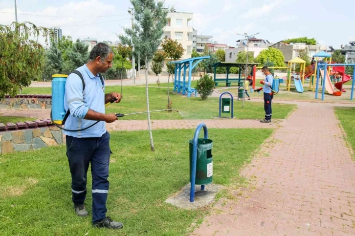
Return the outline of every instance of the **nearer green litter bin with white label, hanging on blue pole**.
{"type": "MultiPolygon", "coordinates": [[[[192,154],[193,154],[194,140],[189,141],[190,148],[190,182],[192,172],[192,154]]],[[[213,162],[212,162],[212,146],[211,139],[199,138],[197,142],[197,156],[196,156],[196,180],[195,184],[205,185],[212,183],[213,162]]]]}

